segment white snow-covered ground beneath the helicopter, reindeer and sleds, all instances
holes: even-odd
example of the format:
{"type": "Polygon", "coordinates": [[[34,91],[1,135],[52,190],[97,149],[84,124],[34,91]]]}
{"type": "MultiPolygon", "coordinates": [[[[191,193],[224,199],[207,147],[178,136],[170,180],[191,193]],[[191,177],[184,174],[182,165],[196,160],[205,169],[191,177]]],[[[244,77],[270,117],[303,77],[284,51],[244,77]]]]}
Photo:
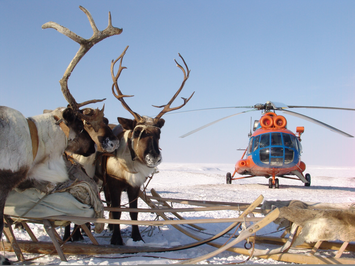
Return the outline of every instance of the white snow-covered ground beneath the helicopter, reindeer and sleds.
{"type": "MultiPolygon", "coordinates": [[[[154,188],[162,197],[176,199],[228,201],[238,203],[251,203],[259,195],[264,196],[264,200],[301,200],[311,202],[331,202],[331,203],[355,203],[355,167],[327,167],[327,166],[307,166],[305,172],[311,174],[311,186],[304,187],[301,181],[292,179],[280,179],[279,189],[269,189],[268,180],[264,177],[254,177],[232,181],[226,184],[226,173],[234,171],[233,164],[173,164],[163,163],[159,166],[159,173],[155,174],[148,185],[147,191],[154,188]]],[[[174,204],[174,207],[186,207],[186,205],[174,204]]],[[[148,206],[139,200],[138,207],[148,206]]],[[[193,218],[229,218],[236,216],[237,211],[211,211],[211,212],[184,212],[182,215],[187,219],[193,218]]],[[[169,216],[169,214],[168,214],[169,216]]],[[[173,215],[171,215],[173,217],[173,215]]],[[[122,213],[122,219],[129,220],[129,214],[122,213]]],[[[151,213],[140,213],[138,220],[154,220],[156,215],[151,213]]],[[[160,218],[162,219],[162,218],[160,218]]],[[[49,241],[47,234],[43,232],[42,226],[29,224],[39,240],[49,241]]],[[[217,234],[226,228],[225,223],[201,224],[206,228],[200,234],[203,238],[208,238],[209,234],[217,234]],[[208,233],[208,234],[206,234],[208,233]]],[[[146,227],[141,226],[141,231],[146,227]]],[[[273,223],[258,231],[257,234],[265,234],[275,231],[277,228],[273,223]]],[[[121,225],[123,235],[130,235],[130,226],[121,225]],[[128,233],[127,233],[128,232],[128,233]]],[[[60,234],[64,229],[57,229],[60,234]]],[[[26,232],[15,230],[17,239],[29,239],[26,232]]],[[[179,244],[194,242],[190,237],[182,234],[172,226],[155,228],[152,235],[148,232],[142,233],[145,241],[133,242],[125,237],[126,245],[146,245],[169,247],[179,244]]],[[[280,233],[278,233],[279,235],[280,233]]],[[[94,234],[95,235],[95,234],[94,234]]],[[[97,237],[99,243],[109,244],[109,232],[105,230],[97,237]]],[[[98,236],[98,235],[95,235],[98,236]]],[[[219,238],[220,243],[226,242],[227,238],[219,238]]],[[[89,239],[86,242],[91,243],[89,239]]],[[[179,262],[176,259],[195,258],[212,252],[215,248],[209,245],[201,245],[195,248],[171,251],[165,253],[141,253],[141,254],[110,254],[88,257],[87,255],[66,255],[68,262],[61,262],[59,257],[47,255],[33,261],[34,265],[138,265],[138,264],[172,264],[179,262]],[[125,258],[119,258],[119,257],[125,258]],[[130,257],[127,257],[130,256],[130,257]],[[155,257],[153,257],[155,256],[155,257]],[[175,259],[175,260],[174,260],[175,259]]],[[[14,253],[6,253],[6,256],[16,261],[14,253]]],[[[355,254],[350,254],[355,258],[355,254]]],[[[25,254],[25,257],[33,257],[32,254],[25,254]]],[[[231,262],[244,261],[245,255],[239,255],[230,251],[224,251],[210,259],[199,262],[199,264],[225,264],[231,262]]],[[[253,258],[247,264],[287,264],[271,259],[253,258]]]]}

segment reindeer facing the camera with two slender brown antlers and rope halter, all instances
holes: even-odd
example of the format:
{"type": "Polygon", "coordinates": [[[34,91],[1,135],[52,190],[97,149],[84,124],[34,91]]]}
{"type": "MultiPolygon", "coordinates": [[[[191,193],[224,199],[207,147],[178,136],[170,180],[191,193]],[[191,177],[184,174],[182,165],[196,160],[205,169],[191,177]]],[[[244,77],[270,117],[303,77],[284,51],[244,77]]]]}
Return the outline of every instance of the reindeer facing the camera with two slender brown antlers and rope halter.
{"type": "MultiPolygon", "coordinates": [[[[122,67],[122,59],[127,48],[128,46],[115,61],[112,60],[111,62],[111,76],[113,79],[112,93],[121,102],[122,106],[133,115],[134,119],[132,120],[122,117],[117,118],[120,125],[114,128],[113,131],[116,132],[116,135],[120,140],[120,146],[112,153],[114,156],[103,157],[103,163],[106,165],[104,172],[106,173],[101,172],[102,167],[98,163],[93,165],[93,155],[87,158],[77,156],[76,160],[81,162],[81,164],[84,164],[84,168],[89,175],[93,177],[94,174],[96,174],[100,179],[105,180],[105,197],[106,200],[111,202],[112,207],[121,206],[121,193],[122,191],[126,191],[130,202],[130,208],[137,208],[137,198],[140,193],[141,185],[146,182],[147,178],[152,173],[155,172],[155,167],[162,162],[162,156],[159,149],[159,138],[160,129],[164,126],[165,120],[161,117],[166,112],[178,110],[182,106],[186,105],[186,103],[191,99],[193,93],[189,99],[182,98],[184,100],[182,105],[170,108],[170,105],[181,92],[190,74],[189,68],[187,67],[182,56],[179,54],[180,58],[184,62],[186,71],[174,59],[177,66],[184,73],[184,79],[173,98],[171,98],[166,105],[153,105],[158,108],[164,107],[164,109],[155,118],[140,116],[138,113],[133,112],[124,101],[125,97],[132,97],[133,95],[123,95],[117,83],[122,70],[126,68],[122,67]],[[119,60],[120,66],[118,73],[114,75],[113,68],[115,63],[119,60]],[[114,88],[116,88],[116,93],[114,88]]],[[[132,220],[137,220],[138,213],[130,212],[130,216],[132,220]]],[[[110,212],[110,217],[120,219],[121,212],[110,212]]],[[[113,230],[110,243],[113,245],[123,245],[120,225],[109,225],[109,227],[113,230]]],[[[73,241],[82,238],[78,230],[75,233],[76,235],[73,236],[73,241]]],[[[69,230],[67,230],[67,234],[64,239],[66,236],[69,236],[69,230]]],[[[133,241],[143,240],[137,225],[132,226],[131,237],[133,241]]]]}

